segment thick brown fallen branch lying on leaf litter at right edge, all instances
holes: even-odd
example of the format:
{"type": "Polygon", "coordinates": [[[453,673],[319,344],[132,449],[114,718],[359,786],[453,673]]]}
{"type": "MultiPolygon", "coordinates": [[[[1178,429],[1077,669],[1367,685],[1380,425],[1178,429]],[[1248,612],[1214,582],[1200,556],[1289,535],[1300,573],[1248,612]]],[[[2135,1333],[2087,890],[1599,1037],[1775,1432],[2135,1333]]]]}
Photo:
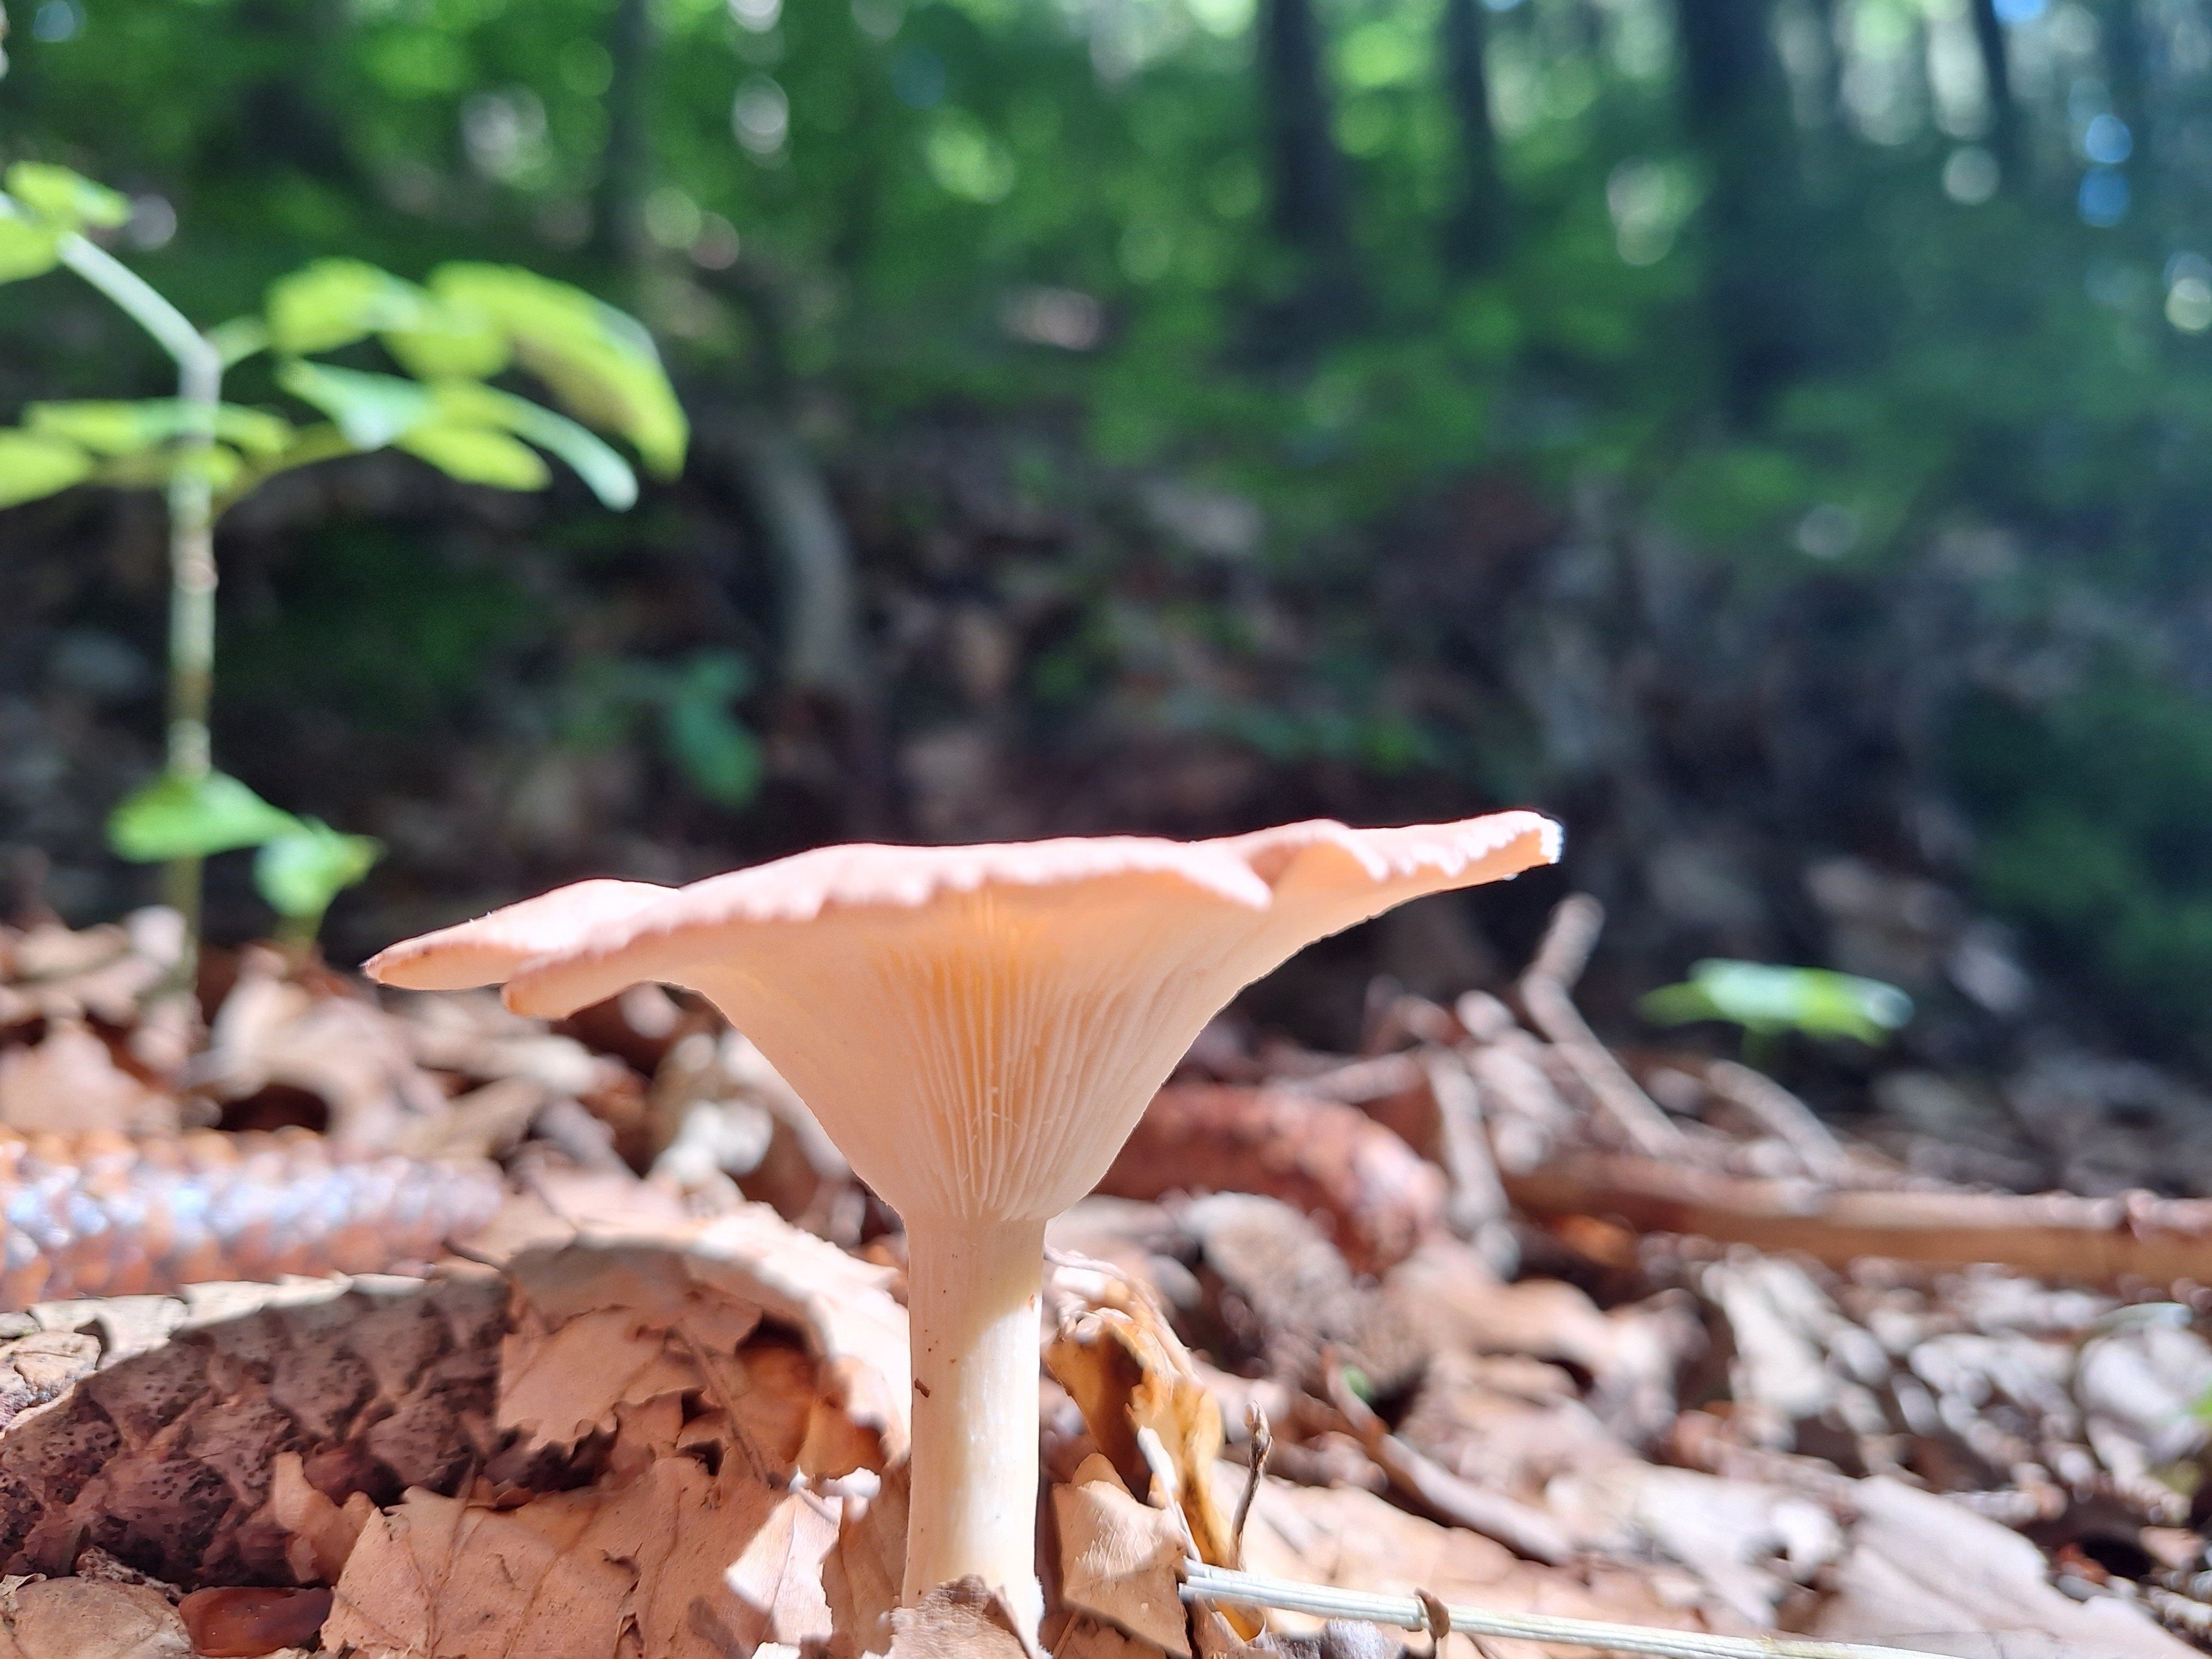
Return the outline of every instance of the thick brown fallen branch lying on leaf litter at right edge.
{"type": "Polygon", "coordinates": [[[1832,1267],[1891,1256],[2093,1285],[2212,1279],[2212,1201],[2201,1199],[1849,1190],[1619,1152],[1568,1152],[1504,1181],[1526,1214],[1617,1217],[1644,1232],[1803,1250],[1832,1267]]]}

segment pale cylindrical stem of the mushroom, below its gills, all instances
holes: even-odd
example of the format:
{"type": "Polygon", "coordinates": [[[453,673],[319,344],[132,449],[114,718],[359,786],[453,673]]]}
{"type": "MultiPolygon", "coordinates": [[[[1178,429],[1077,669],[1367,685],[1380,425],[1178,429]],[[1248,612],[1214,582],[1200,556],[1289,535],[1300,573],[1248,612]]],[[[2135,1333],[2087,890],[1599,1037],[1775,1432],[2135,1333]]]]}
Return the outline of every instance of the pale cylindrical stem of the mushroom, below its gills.
{"type": "Polygon", "coordinates": [[[914,1329],[909,1606],[975,1573],[1035,1632],[1044,1221],[907,1217],[914,1329]]]}

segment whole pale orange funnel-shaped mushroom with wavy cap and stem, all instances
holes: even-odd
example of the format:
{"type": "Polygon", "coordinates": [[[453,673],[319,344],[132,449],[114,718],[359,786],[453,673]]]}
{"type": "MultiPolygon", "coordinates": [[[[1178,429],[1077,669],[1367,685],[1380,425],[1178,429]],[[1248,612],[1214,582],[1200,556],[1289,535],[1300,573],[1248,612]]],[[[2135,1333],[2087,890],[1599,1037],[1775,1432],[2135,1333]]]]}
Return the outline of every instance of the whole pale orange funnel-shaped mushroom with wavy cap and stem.
{"type": "Polygon", "coordinates": [[[1533,812],[1221,841],[823,847],[690,887],[580,883],[405,940],[385,984],[507,982],[566,1015],[688,987],[907,1223],[916,1601],[975,1573],[1033,1630],[1044,1223],[1088,1192],[1199,1029],[1312,940],[1559,856],[1533,812]]]}

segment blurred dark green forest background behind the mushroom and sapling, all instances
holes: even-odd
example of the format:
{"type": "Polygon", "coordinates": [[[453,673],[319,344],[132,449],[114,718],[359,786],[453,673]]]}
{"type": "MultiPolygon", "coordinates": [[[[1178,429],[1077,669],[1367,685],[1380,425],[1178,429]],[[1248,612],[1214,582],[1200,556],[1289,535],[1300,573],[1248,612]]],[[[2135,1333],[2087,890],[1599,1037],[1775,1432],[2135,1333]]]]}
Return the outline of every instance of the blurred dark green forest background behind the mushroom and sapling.
{"type": "MultiPolygon", "coordinates": [[[[9,0],[4,49],[0,159],[128,192],[201,325],[515,261],[690,409],[628,515],[385,453],[226,520],[217,752],[389,849],[343,960],[832,838],[1526,803],[1564,880],[1263,1011],[1509,975],[1573,883],[1615,1029],[1829,962],[1920,1000],[1887,1110],[2212,1124],[2205,0],[9,0]]],[[[168,378],[0,288],[0,414],[168,378]]],[[[153,891],[100,825],[161,560],[150,495],[0,513],[18,902],[153,891]]]]}

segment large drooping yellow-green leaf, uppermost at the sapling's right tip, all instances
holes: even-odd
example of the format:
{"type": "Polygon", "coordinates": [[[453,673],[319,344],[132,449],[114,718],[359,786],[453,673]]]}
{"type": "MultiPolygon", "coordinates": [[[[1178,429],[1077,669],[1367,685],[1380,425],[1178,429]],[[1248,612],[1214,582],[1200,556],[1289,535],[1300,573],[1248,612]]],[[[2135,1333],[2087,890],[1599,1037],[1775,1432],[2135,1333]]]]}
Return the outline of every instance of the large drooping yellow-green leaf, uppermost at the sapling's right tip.
{"type": "Polygon", "coordinates": [[[440,265],[429,288],[504,332],[568,414],[628,438],[659,476],[684,471],[690,425],[637,319],[520,265],[440,265]]]}

